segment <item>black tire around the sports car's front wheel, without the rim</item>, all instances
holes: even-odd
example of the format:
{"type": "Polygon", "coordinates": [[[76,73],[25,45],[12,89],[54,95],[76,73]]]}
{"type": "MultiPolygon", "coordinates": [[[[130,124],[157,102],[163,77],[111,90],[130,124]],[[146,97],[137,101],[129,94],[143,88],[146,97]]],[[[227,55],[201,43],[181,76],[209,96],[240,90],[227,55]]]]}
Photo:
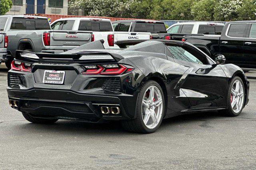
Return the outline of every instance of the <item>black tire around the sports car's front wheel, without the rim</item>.
{"type": "MultiPolygon", "coordinates": [[[[235,76],[230,84],[229,84],[229,88],[228,88],[228,97],[227,97],[227,109],[223,109],[223,110],[220,110],[219,112],[222,113],[222,114],[225,114],[227,116],[230,116],[230,117],[236,117],[236,116],[239,116],[241,113],[242,113],[242,110],[244,108],[244,106],[242,107],[242,109],[238,112],[238,113],[235,113],[231,107],[231,101],[230,101],[230,96],[231,96],[231,89],[232,89],[232,86],[234,84],[234,82],[236,80],[240,80],[242,82],[242,85],[243,85],[243,88],[244,88],[244,82],[242,81],[242,79],[238,76],[235,76]]],[[[245,90],[244,90],[244,94],[245,94],[245,90]]],[[[245,101],[245,96],[244,96],[244,101],[245,101]]]]}

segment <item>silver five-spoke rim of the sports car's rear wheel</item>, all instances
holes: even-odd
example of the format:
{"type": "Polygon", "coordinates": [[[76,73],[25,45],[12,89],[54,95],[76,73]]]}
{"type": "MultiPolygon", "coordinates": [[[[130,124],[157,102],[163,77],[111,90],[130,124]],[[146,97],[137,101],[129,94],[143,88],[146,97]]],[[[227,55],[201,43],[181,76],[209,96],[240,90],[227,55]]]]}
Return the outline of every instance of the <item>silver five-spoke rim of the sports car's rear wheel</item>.
{"type": "Polygon", "coordinates": [[[144,93],[142,100],[142,118],[148,128],[155,128],[161,120],[163,98],[158,87],[152,85],[144,93]]]}

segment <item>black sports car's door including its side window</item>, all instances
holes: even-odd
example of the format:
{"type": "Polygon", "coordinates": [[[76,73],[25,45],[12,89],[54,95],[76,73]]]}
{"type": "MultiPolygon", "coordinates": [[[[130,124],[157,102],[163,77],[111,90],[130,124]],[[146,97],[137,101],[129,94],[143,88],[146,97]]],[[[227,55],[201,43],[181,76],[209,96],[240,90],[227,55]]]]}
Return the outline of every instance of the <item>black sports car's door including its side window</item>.
{"type": "Polygon", "coordinates": [[[192,108],[226,106],[226,75],[219,65],[190,45],[167,46],[174,61],[187,68],[180,91],[192,108]]]}

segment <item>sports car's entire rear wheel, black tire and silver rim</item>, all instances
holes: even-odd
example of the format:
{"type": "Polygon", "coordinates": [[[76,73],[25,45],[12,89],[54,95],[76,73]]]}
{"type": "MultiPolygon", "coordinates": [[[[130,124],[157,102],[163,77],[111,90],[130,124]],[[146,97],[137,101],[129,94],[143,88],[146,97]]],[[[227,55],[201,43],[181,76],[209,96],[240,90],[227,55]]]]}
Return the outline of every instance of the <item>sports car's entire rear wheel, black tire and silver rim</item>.
{"type": "Polygon", "coordinates": [[[130,132],[152,133],[161,125],[164,117],[164,93],[156,81],[146,82],[140,89],[136,118],[122,121],[122,127],[130,132]]]}

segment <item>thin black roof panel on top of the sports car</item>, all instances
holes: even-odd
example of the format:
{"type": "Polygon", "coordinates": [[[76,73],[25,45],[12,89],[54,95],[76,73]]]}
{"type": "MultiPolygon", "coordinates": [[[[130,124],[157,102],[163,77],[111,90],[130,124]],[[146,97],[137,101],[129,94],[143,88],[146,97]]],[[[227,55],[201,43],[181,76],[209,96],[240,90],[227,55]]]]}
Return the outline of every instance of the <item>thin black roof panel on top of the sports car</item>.
{"type": "Polygon", "coordinates": [[[120,48],[127,48],[127,45],[136,45],[138,43],[146,42],[146,41],[158,41],[163,42],[166,45],[178,45],[182,46],[186,42],[176,41],[176,40],[159,40],[159,39],[151,39],[151,40],[120,40],[116,41],[115,44],[120,48]]]}

